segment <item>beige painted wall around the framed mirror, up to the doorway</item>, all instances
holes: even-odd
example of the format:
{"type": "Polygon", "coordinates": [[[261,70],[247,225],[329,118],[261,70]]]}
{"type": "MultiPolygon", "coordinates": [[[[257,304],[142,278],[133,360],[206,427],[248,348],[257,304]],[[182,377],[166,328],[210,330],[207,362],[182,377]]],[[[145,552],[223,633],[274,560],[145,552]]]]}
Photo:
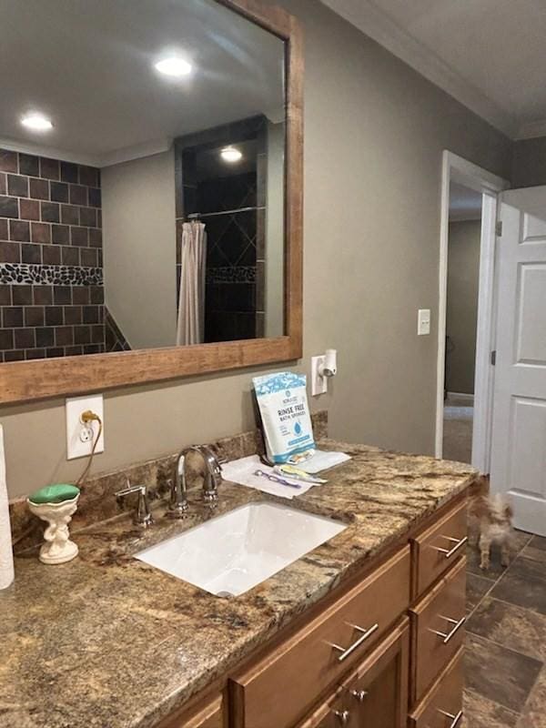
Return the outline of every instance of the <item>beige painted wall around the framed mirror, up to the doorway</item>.
{"type": "MultiPolygon", "coordinates": [[[[306,32],[300,367],[339,350],[339,374],[313,407],[329,408],[335,437],[432,452],[441,151],[508,177],[511,146],[315,0],[284,5],[306,32]],[[418,338],[417,309],[427,307],[431,334],[418,338]]],[[[255,371],[108,393],[95,470],[248,428],[255,371]]],[[[0,415],[12,495],[83,467],[65,460],[62,399],[0,415]]]]}

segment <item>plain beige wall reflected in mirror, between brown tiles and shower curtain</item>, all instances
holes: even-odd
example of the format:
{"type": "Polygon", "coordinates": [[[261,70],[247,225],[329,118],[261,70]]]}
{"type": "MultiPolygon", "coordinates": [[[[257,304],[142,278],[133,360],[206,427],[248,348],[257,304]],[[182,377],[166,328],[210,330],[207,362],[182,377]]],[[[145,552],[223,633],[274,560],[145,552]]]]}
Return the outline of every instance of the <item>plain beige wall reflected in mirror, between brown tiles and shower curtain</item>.
{"type": "Polygon", "coordinates": [[[101,170],[106,307],[132,349],[177,340],[174,149],[101,170]]]}

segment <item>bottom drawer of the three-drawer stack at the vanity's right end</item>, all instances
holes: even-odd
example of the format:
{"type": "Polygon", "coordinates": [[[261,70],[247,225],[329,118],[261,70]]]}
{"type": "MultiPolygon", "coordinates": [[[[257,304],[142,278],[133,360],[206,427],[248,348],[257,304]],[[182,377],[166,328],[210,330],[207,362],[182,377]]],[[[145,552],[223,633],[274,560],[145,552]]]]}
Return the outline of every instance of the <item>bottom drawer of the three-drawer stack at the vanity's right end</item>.
{"type": "Polygon", "coordinates": [[[410,728],[460,728],[462,723],[462,648],[438,682],[410,715],[410,728]]]}

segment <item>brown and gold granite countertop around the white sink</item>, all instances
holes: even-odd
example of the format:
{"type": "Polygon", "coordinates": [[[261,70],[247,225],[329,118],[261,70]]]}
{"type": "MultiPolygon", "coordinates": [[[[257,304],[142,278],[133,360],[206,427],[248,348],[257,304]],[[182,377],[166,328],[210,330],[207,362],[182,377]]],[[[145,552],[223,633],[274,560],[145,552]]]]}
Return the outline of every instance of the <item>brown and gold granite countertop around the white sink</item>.
{"type": "MultiPolygon", "coordinates": [[[[326,440],[352,460],[295,508],[349,528],[239,597],[212,596],[132,558],[210,518],[198,491],[186,521],[138,531],[128,518],[76,534],[80,555],[15,559],[0,591],[2,728],[149,728],[236,665],[296,614],[399,539],[476,475],[468,465],[326,440]]],[[[214,515],[276,501],[223,483],[214,515]]]]}

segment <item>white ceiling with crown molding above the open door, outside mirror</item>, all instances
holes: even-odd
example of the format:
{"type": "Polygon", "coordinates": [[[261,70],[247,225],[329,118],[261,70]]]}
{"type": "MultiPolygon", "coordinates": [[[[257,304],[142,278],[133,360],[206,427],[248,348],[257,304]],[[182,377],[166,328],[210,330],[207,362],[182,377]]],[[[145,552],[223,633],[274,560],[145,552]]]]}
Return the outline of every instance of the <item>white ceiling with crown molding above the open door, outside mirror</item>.
{"type": "Polygon", "coordinates": [[[546,135],[544,0],[322,0],[511,138],[546,135]]]}

